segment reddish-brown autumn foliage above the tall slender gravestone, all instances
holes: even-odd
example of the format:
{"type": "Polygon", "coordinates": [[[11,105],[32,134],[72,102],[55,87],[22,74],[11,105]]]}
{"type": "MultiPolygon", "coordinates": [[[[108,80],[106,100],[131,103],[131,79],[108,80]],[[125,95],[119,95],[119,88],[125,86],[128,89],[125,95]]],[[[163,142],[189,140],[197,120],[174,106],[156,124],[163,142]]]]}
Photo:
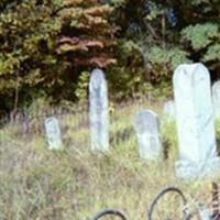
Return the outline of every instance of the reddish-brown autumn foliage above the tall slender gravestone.
{"type": "Polygon", "coordinates": [[[75,66],[105,68],[116,64],[110,54],[116,29],[108,21],[112,8],[95,0],[67,0],[64,6],[58,13],[64,22],[57,53],[68,56],[75,66]]]}

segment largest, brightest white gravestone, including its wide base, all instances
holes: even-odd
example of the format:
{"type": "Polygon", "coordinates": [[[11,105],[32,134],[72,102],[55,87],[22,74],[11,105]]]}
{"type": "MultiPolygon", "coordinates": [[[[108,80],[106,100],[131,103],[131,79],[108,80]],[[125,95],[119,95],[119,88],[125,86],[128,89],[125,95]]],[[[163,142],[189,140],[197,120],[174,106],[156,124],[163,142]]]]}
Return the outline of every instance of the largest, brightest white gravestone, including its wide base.
{"type": "Polygon", "coordinates": [[[179,65],[173,77],[182,178],[204,177],[219,167],[210,75],[202,64],[179,65]]]}

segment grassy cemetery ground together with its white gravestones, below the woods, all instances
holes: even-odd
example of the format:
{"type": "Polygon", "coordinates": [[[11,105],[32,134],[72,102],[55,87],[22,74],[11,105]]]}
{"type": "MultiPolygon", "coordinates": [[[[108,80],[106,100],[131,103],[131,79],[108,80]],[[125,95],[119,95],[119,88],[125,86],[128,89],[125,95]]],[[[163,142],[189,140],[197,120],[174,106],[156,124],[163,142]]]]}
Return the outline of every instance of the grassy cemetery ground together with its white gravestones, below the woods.
{"type": "MultiPolygon", "coordinates": [[[[201,220],[219,219],[217,85],[211,88],[209,70],[198,63],[179,65],[173,86],[173,101],[154,106],[138,100],[116,107],[112,113],[105,73],[94,69],[87,109],[47,109],[35,116],[38,124],[32,122],[31,112],[9,121],[0,131],[0,161],[2,176],[13,175],[7,185],[1,178],[1,202],[12,187],[15,195],[8,202],[21,200],[24,213],[19,212],[20,217],[33,208],[44,215],[50,202],[62,219],[89,219],[99,209],[103,211],[95,220],[108,215],[135,219],[136,210],[139,219],[166,219],[166,215],[194,219],[191,213],[201,220]],[[166,201],[157,205],[165,193],[166,201]],[[47,200],[51,194],[55,200],[47,200]]],[[[12,202],[10,209],[19,211],[16,206],[12,202]]],[[[1,215],[6,217],[7,210],[1,215]]]]}

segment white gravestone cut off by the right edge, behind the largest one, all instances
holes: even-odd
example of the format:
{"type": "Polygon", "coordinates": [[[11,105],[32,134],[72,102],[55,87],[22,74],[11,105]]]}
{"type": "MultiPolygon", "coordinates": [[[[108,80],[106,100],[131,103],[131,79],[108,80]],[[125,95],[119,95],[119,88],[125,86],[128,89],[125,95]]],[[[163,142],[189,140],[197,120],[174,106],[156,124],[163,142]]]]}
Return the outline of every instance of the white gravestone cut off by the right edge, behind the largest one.
{"type": "Polygon", "coordinates": [[[215,110],[215,117],[217,119],[220,118],[220,80],[216,81],[212,87],[212,103],[213,103],[213,110],[215,110]]]}

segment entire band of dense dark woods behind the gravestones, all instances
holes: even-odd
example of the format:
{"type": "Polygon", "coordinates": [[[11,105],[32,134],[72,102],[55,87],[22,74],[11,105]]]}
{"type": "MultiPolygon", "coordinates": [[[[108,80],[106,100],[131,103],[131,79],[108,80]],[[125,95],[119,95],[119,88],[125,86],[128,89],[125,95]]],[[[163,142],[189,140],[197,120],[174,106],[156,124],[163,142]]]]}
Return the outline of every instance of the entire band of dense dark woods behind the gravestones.
{"type": "Polygon", "coordinates": [[[219,77],[219,0],[1,0],[0,11],[1,114],[84,100],[95,67],[114,100],[170,96],[184,62],[219,77]]]}

